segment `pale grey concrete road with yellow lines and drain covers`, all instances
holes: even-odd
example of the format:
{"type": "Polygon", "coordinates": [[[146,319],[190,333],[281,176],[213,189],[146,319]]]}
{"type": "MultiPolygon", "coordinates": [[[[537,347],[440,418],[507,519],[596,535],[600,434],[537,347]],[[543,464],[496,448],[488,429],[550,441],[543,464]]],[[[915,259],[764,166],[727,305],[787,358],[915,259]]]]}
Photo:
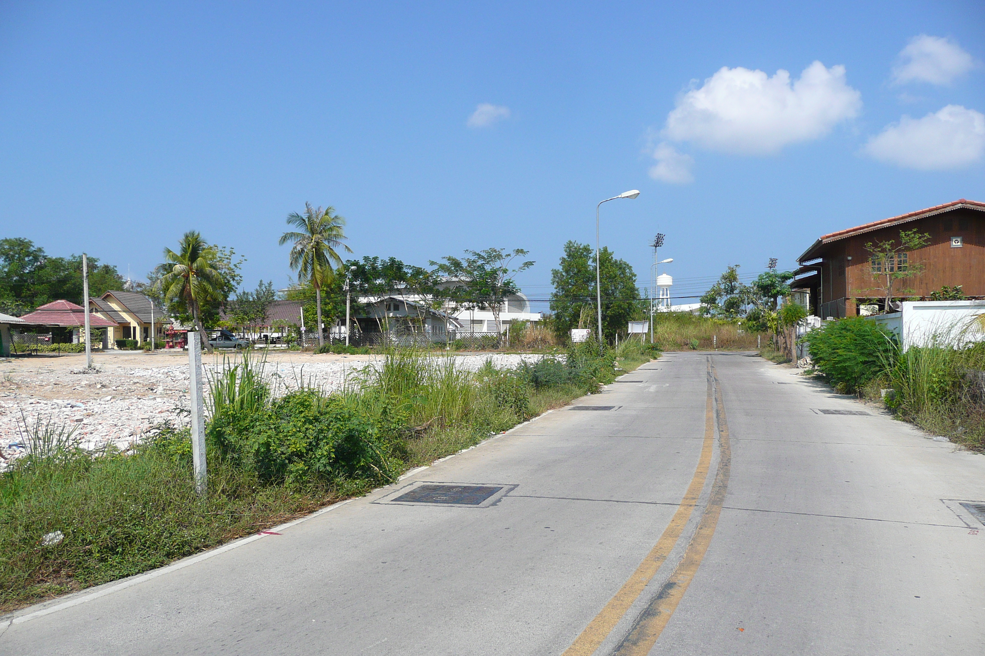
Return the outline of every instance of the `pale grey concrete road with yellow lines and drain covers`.
{"type": "Polygon", "coordinates": [[[962,501],[985,456],[672,353],[281,535],[27,609],[0,653],[977,656],[962,501]]]}

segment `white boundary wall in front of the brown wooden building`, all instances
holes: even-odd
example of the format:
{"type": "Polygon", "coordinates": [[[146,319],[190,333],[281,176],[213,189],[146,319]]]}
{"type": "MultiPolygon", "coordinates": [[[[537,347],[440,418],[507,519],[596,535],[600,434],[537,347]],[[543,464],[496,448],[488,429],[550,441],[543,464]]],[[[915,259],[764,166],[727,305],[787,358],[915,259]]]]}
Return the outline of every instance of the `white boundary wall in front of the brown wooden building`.
{"type": "Polygon", "coordinates": [[[899,312],[870,317],[910,346],[964,346],[985,341],[985,301],[905,301],[899,312]]]}

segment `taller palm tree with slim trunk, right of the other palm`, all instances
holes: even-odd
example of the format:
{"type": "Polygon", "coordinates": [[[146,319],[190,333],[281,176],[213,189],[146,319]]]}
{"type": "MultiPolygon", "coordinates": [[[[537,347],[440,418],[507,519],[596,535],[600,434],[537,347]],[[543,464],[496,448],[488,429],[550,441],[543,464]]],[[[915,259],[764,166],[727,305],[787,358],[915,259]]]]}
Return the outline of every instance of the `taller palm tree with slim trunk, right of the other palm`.
{"type": "Polygon", "coordinates": [[[303,214],[296,211],[288,214],[288,225],[293,225],[297,230],[285,232],[280,245],[294,244],[291,248],[291,268],[297,271],[297,281],[301,284],[309,282],[314,287],[318,310],[318,346],[321,346],[324,343],[321,334],[321,288],[335,276],[332,267],[342,266],[342,258],[335,250],[341,247],[349,253],[353,252],[342,243],[346,238],[346,219],[336,214],[335,208],[314,209],[310,203],[305,203],[303,214]]]}

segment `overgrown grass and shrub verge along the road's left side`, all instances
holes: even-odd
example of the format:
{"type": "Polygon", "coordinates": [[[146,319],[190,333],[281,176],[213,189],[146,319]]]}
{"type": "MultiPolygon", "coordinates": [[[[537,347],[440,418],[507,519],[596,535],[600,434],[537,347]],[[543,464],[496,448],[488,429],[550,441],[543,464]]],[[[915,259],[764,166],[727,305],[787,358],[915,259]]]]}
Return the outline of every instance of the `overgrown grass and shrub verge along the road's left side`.
{"type": "Polygon", "coordinates": [[[263,364],[212,381],[208,494],[195,493],[187,429],[163,424],[129,453],[24,427],[29,454],[0,473],[0,612],[164,565],[392,482],[611,383],[655,353],[589,342],[565,357],[465,372],[391,351],[342,393],[274,398],[263,364]]]}

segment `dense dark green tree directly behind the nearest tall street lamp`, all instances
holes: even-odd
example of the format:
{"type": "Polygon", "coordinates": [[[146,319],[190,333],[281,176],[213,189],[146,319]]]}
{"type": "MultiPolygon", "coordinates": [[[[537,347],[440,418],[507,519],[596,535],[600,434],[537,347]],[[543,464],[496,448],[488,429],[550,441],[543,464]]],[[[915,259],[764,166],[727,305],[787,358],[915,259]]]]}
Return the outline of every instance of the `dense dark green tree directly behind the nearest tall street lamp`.
{"type": "MultiPolygon", "coordinates": [[[[602,281],[602,334],[607,340],[624,332],[628,322],[640,316],[636,273],[624,260],[603,248],[599,252],[599,277],[602,281]]],[[[569,241],[564,244],[558,268],[551,270],[551,312],[556,334],[566,339],[579,319],[590,318],[595,325],[595,249],[588,244],[569,241]]]]}

